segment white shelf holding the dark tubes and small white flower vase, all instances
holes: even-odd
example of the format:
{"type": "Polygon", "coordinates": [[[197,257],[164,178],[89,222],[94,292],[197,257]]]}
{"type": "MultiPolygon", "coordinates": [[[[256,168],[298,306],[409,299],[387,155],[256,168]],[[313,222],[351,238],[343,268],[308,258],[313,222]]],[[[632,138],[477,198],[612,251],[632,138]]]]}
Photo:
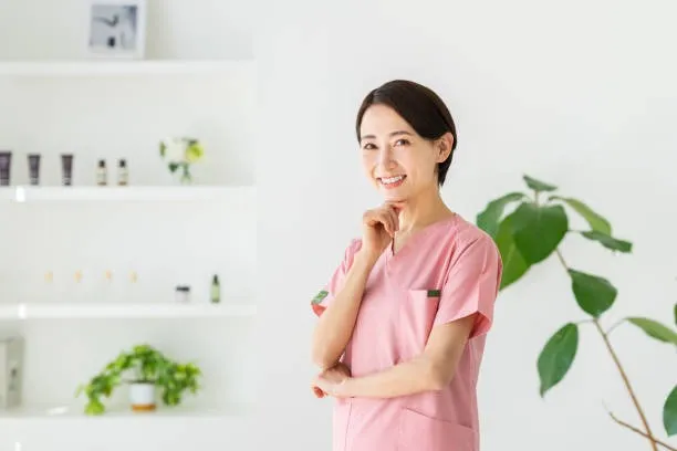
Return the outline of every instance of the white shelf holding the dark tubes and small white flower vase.
{"type": "MultiPolygon", "coordinates": [[[[256,196],[253,186],[1,187],[0,201],[202,201],[256,196]]],[[[251,198],[253,201],[253,198],[251,198]]]]}

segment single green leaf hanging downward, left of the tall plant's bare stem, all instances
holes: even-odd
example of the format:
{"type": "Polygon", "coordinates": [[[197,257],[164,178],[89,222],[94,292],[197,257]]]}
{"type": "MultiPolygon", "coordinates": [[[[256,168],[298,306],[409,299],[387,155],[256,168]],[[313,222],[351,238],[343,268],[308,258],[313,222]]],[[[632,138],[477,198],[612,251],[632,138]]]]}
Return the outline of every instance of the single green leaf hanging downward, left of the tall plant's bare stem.
{"type": "Polygon", "coordinates": [[[566,323],[548,340],[538,360],[541,398],[566,376],[577,349],[579,327],[574,323],[566,323]]]}

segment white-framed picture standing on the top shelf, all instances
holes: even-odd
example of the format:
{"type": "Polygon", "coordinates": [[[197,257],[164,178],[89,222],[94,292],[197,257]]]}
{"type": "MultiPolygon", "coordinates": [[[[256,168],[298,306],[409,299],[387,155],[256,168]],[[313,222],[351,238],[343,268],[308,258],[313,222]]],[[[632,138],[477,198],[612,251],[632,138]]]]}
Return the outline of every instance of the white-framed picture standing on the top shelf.
{"type": "Polygon", "coordinates": [[[90,0],[87,54],[104,59],[144,59],[146,1],[90,0]]]}

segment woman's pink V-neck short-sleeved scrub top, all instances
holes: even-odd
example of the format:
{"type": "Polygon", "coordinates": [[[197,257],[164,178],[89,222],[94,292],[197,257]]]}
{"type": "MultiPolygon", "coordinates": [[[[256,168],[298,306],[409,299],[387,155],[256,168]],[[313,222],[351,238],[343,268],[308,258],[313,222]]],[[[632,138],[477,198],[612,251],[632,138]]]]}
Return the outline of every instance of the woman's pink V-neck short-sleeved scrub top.
{"type": "MultiPolygon", "coordinates": [[[[353,240],[312,302],[321,315],[341,290],[362,241],[353,240]]],[[[336,399],[333,451],[478,451],[477,380],[502,273],[491,237],[459,214],[388,247],[372,270],[342,357],[361,377],[423,353],[431,328],[477,313],[451,382],[398,398],[336,399]]]]}

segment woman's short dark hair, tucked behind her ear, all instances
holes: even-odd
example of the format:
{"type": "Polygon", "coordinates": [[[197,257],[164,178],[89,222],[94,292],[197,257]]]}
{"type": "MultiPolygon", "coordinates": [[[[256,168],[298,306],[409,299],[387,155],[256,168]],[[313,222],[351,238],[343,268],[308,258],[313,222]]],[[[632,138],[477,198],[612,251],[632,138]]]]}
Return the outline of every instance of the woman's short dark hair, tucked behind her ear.
{"type": "Polygon", "coordinates": [[[395,109],[425,139],[438,139],[450,132],[454,136],[449,157],[437,165],[437,182],[441,187],[447,177],[456,149],[456,125],[451,113],[429,87],[407,80],[393,80],[369,92],[357,112],[355,132],[360,140],[360,126],[366,109],[372,105],[386,105],[395,109]]]}

